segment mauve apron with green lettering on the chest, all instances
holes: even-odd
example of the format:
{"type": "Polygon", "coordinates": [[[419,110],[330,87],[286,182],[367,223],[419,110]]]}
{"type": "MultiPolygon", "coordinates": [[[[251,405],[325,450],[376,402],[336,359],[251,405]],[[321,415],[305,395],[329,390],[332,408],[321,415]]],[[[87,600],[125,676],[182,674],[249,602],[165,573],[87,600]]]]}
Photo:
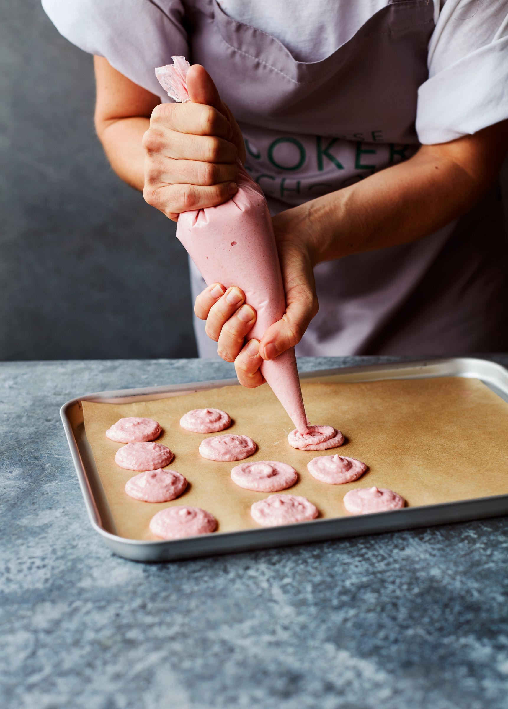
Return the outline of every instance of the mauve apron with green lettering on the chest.
{"type": "MultiPolygon", "coordinates": [[[[414,155],[417,91],[434,30],[428,0],[393,0],[332,55],[300,62],[276,38],[186,0],[191,62],[203,64],[246,140],[272,213],[414,155]]],[[[299,355],[508,349],[507,240],[499,189],[417,242],[320,264],[320,311],[299,355]]],[[[191,263],[193,297],[205,287],[191,263]]],[[[216,343],[195,321],[202,357],[216,343]]]]}

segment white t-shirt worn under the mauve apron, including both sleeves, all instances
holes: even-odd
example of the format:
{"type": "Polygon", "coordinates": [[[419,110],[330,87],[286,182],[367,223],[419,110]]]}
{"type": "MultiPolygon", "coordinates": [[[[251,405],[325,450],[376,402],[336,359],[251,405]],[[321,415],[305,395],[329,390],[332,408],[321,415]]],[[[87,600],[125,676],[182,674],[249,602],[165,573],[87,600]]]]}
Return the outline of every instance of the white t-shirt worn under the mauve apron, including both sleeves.
{"type": "MultiPolygon", "coordinates": [[[[331,55],[388,4],[387,0],[217,1],[227,15],[273,35],[303,62],[331,55]]],[[[142,77],[134,57],[136,53],[147,61],[153,57],[153,66],[169,61],[160,56],[162,40],[154,35],[155,25],[160,33],[175,36],[171,53],[179,53],[176,35],[180,32],[183,40],[184,30],[176,26],[174,16],[184,16],[185,0],[42,2],[60,33],[86,52],[104,55],[105,46],[128,38],[125,50],[133,57],[129,78],[160,95],[157,81],[142,77]]],[[[425,144],[446,143],[508,118],[508,0],[429,2],[434,4],[436,27],[429,43],[429,79],[418,92],[416,121],[418,138],[425,144]]]]}

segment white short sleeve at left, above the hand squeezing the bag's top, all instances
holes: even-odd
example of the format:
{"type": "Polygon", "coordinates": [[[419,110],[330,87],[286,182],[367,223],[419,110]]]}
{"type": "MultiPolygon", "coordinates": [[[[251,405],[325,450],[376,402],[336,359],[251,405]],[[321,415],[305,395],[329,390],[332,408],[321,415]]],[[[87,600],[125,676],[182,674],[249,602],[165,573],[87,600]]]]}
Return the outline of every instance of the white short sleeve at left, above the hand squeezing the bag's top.
{"type": "Polygon", "coordinates": [[[168,101],[155,67],[171,55],[188,56],[181,0],[42,0],[43,9],[66,39],[168,101]]]}

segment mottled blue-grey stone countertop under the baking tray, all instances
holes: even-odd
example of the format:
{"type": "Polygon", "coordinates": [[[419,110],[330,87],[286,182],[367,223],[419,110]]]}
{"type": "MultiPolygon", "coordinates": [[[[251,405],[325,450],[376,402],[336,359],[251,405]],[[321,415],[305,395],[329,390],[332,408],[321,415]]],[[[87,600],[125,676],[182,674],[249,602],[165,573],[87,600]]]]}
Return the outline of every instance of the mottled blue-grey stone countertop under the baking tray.
{"type": "MultiPolygon", "coordinates": [[[[396,360],[300,369],[379,361],[396,360]]],[[[232,372],[196,359],[0,365],[1,705],[506,709],[506,518],[172,564],[103,545],[61,404],[232,372]]]]}

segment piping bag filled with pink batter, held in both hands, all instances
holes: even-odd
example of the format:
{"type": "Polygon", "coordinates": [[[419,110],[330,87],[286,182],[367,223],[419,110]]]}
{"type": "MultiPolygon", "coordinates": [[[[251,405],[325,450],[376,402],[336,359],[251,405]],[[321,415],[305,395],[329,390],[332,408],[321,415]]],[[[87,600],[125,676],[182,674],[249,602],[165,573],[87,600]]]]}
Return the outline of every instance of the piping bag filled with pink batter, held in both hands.
{"type": "MultiPolygon", "coordinates": [[[[184,57],[171,57],[173,65],[158,67],[155,74],[174,101],[189,101],[184,57]]],[[[215,207],[183,212],[176,223],[176,237],[186,248],[210,286],[238,286],[245,301],[257,313],[247,337],[261,340],[270,325],[286,311],[286,296],[278,262],[270,211],[258,184],[238,161],[238,190],[227,202],[215,207]]],[[[286,409],[295,428],[308,430],[295,350],[263,360],[261,374],[286,409]]]]}

